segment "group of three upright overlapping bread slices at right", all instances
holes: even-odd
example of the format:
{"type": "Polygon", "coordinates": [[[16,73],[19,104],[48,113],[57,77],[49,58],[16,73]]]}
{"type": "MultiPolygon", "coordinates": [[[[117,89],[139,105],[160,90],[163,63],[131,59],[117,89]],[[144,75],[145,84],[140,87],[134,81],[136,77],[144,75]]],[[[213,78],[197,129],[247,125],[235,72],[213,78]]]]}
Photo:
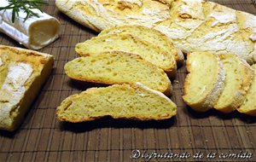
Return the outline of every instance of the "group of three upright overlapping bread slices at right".
{"type": "Polygon", "coordinates": [[[189,107],[256,115],[255,65],[235,55],[194,52],[188,55],[187,69],[183,100],[189,107]]]}

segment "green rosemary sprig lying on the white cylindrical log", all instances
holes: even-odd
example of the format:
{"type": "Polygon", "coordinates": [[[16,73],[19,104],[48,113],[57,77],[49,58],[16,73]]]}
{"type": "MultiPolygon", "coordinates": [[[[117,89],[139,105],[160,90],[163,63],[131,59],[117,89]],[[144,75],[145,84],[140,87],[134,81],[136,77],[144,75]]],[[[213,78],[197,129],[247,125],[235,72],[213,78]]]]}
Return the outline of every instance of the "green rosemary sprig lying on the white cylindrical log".
{"type": "Polygon", "coordinates": [[[0,7],[1,10],[12,9],[12,22],[15,22],[15,17],[19,17],[20,10],[23,10],[26,13],[26,17],[23,22],[32,16],[39,17],[38,13],[32,11],[32,9],[40,9],[42,4],[46,4],[44,0],[8,0],[9,5],[5,7],[0,7]]]}

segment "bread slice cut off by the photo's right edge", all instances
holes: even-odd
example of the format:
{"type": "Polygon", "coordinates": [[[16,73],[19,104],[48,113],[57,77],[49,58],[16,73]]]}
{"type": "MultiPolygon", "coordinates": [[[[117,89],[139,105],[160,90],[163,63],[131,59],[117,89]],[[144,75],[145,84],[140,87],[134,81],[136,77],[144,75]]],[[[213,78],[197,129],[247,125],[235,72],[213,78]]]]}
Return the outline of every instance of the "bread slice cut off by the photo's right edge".
{"type": "Polygon", "coordinates": [[[246,100],[237,110],[240,113],[256,116],[256,64],[253,66],[254,76],[250,89],[247,91],[246,100]]]}

